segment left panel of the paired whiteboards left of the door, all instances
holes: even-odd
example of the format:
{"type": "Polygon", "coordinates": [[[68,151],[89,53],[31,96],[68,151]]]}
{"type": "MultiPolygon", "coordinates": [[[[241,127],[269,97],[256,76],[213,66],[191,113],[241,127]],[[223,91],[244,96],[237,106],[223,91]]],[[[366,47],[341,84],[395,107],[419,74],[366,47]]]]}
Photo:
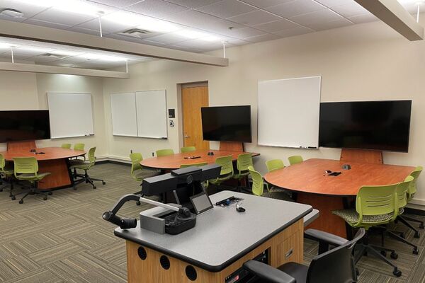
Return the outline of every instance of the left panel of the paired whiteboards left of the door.
{"type": "Polygon", "coordinates": [[[137,137],[135,93],[111,94],[111,113],[114,136],[137,137]]]}

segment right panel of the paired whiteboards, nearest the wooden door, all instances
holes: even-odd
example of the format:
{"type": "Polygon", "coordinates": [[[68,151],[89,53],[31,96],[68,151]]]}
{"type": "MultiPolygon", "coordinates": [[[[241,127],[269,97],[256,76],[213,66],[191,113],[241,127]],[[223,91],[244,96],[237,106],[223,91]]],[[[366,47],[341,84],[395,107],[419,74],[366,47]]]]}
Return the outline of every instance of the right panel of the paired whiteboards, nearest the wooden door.
{"type": "Polygon", "coordinates": [[[137,91],[137,136],[164,139],[167,137],[166,92],[137,91]]]}

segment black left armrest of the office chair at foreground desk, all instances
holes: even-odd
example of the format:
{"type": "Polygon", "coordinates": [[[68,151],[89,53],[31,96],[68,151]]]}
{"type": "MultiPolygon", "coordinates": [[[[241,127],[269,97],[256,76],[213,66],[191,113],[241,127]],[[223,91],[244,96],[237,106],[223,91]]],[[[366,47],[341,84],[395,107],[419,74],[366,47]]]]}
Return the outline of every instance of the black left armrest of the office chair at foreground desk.
{"type": "Polygon", "coordinates": [[[295,278],[290,277],[285,272],[256,260],[245,262],[244,268],[269,283],[297,283],[295,278]]]}

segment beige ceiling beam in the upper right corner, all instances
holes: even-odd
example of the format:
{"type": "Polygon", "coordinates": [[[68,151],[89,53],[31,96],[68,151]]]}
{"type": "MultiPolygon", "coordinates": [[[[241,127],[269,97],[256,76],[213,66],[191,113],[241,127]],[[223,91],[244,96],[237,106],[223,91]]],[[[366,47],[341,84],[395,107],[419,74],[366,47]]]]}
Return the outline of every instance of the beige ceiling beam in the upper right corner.
{"type": "Polygon", "coordinates": [[[366,10],[410,41],[423,40],[424,28],[397,0],[356,0],[366,10]]]}

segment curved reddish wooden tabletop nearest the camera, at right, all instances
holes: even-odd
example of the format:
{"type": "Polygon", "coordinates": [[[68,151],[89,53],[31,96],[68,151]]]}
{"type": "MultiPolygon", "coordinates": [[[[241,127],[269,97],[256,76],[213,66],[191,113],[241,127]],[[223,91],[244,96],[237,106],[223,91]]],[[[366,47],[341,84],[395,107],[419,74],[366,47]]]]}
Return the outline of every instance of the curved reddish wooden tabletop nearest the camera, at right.
{"type": "Polygon", "coordinates": [[[312,158],[279,169],[264,176],[267,183],[297,192],[319,195],[353,196],[363,185],[399,183],[413,170],[412,166],[349,162],[351,170],[341,167],[347,162],[312,158]],[[338,176],[323,175],[324,171],[342,172],[338,176]]]}

